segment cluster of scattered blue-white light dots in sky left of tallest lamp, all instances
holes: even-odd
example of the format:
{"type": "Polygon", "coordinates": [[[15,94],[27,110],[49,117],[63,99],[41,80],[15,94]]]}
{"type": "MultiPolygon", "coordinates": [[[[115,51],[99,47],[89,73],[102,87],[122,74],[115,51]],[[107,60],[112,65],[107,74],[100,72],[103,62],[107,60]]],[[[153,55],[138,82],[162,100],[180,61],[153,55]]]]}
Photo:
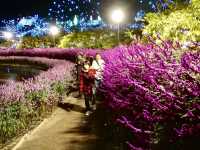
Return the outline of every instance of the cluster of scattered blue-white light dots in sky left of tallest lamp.
{"type": "Polygon", "coordinates": [[[90,19],[90,16],[99,16],[100,0],[52,0],[49,7],[49,17],[55,18],[60,22],[73,20],[75,16],[90,19]],[[60,11],[63,10],[63,11],[60,11]]]}

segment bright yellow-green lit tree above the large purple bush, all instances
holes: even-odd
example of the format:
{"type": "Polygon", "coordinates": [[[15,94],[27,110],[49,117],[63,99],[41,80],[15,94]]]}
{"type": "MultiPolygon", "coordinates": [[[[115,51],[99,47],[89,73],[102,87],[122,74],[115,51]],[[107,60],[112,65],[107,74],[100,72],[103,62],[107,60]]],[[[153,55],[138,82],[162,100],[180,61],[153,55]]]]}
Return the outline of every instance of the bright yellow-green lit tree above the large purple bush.
{"type": "Polygon", "coordinates": [[[191,4],[182,9],[171,9],[168,13],[149,13],[145,16],[148,25],[143,30],[156,37],[175,41],[200,40],[200,2],[193,0],[191,4]]]}

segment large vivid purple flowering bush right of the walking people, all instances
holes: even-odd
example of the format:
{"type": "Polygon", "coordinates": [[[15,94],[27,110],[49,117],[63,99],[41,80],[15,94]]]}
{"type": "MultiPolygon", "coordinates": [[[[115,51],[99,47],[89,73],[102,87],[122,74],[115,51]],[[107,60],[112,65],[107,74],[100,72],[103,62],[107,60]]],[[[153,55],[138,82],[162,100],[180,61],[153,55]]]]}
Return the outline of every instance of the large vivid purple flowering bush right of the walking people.
{"type": "Polygon", "coordinates": [[[200,137],[200,52],[185,53],[179,61],[175,51],[168,41],[103,53],[101,91],[113,117],[131,133],[132,150],[200,137]]]}

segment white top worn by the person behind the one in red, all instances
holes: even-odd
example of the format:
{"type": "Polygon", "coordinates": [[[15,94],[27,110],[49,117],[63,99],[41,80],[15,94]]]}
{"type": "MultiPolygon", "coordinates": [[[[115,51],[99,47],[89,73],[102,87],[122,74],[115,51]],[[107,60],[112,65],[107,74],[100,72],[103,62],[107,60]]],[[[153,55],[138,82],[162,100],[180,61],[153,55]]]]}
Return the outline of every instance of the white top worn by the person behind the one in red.
{"type": "Polygon", "coordinates": [[[92,62],[91,68],[96,70],[95,78],[97,80],[102,80],[103,78],[104,65],[105,65],[105,62],[103,59],[98,60],[98,62],[97,60],[94,60],[92,62]]]}

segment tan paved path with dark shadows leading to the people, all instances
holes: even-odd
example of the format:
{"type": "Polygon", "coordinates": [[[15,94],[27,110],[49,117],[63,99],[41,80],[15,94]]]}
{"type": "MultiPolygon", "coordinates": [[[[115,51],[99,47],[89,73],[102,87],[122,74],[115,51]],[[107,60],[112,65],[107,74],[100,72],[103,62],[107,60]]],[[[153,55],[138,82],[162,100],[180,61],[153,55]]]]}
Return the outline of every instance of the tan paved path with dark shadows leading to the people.
{"type": "Polygon", "coordinates": [[[13,150],[112,150],[109,139],[94,114],[84,115],[84,101],[68,97],[53,115],[22,140],[13,150]],[[105,140],[107,143],[105,143],[105,140]]]}

